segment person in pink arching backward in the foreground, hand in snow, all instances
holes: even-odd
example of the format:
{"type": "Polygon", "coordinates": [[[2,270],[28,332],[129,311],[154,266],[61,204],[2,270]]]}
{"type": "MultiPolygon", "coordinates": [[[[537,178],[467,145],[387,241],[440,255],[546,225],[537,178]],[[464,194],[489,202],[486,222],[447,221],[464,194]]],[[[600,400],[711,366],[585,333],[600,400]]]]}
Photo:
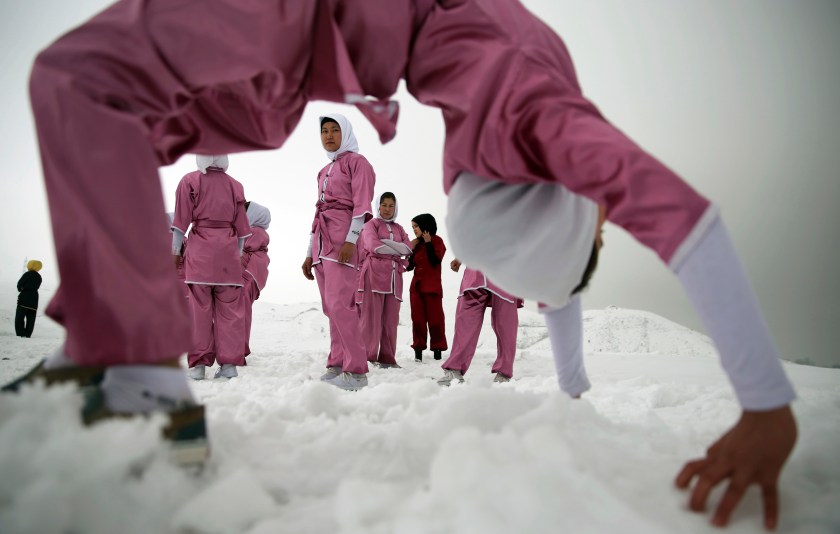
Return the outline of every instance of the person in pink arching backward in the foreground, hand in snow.
{"type": "MultiPolygon", "coordinates": [[[[551,306],[563,391],[588,387],[571,290],[595,246],[598,206],[674,272],[741,408],[676,483],[693,485],[698,512],[728,486],[712,515],[718,526],[757,484],[764,524],[775,528],[796,395],[723,219],[604,118],[563,41],[516,0],[216,0],[213,9],[121,0],[51,44],[30,95],[62,280],[47,314],[67,330],[67,358],[51,358],[38,376],[107,367],[99,389],[110,409],[171,411],[147,397],[123,406],[109,382],[163,394],[150,368],[177,362],[189,345],[163,229],[149,224],[163,212],[157,168],[187,152],[279,147],[312,100],[355,105],[390,141],[398,106],[389,98],[402,79],[443,115],[452,247],[505,291],[551,306]]],[[[184,384],[173,378],[168,396],[190,399],[184,384]]]]}

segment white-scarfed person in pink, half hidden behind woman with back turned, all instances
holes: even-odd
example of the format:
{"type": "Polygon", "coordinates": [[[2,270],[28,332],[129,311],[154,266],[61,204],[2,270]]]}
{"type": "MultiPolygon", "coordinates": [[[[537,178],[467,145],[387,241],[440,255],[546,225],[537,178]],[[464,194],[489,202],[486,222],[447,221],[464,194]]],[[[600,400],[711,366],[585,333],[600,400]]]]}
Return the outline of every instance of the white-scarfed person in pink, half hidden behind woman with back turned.
{"type": "Polygon", "coordinates": [[[246,202],[245,212],[251,225],[251,236],[245,240],[242,250],[242,294],[239,296],[240,313],[245,329],[245,348],[243,354],[251,354],[251,321],[254,301],[260,298],[260,292],[268,281],[268,225],[271,212],[256,202],[246,202]]]}

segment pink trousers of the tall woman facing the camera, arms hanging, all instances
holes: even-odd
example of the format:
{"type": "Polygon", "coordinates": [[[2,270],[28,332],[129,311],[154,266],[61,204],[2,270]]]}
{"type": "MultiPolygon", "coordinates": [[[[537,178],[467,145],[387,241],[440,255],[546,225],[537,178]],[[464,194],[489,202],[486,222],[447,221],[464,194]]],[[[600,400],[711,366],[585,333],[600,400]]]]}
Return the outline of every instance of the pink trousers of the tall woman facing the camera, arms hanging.
{"type": "Polygon", "coordinates": [[[313,266],[324,315],[330,320],[330,355],[327,367],[347,373],[367,373],[359,312],[356,309],[358,271],[354,267],[324,260],[313,266]]]}

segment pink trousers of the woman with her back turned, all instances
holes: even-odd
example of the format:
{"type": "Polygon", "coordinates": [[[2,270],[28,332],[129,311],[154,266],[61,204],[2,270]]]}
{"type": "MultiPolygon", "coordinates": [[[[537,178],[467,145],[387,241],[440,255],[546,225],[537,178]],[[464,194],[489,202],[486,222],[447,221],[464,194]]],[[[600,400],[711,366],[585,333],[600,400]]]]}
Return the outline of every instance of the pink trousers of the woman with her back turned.
{"type": "Polygon", "coordinates": [[[216,361],[219,365],[245,365],[241,292],[239,286],[190,284],[193,312],[193,348],[187,355],[190,367],[209,366],[216,361]]]}

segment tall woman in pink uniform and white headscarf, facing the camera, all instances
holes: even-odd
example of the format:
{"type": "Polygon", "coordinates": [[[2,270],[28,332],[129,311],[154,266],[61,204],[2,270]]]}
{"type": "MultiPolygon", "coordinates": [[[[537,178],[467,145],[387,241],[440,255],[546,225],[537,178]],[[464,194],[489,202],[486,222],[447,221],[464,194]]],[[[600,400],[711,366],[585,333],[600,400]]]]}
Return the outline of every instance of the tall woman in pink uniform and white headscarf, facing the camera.
{"type": "Polygon", "coordinates": [[[359,154],[353,127],[344,115],[320,118],[327,164],[317,176],[318,201],[303,275],[318,281],[321,306],[330,321],[330,355],[321,380],[347,390],[367,385],[367,355],[359,330],[356,241],[373,214],[373,167],[359,154]],[[313,276],[314,271],[314,276],[313,276]]]}

